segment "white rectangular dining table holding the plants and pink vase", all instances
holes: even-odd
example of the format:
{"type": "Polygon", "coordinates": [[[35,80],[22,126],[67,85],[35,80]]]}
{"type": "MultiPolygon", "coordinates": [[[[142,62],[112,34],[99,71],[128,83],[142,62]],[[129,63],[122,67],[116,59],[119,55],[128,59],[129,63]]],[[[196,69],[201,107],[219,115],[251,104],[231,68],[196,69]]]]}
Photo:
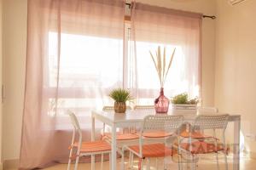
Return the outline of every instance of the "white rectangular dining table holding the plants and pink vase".
{"type": "MultiPolygon", "coordinates": [[[[119,127],[139,127],[143,118],[148,115],[154,115],[153,111],[126,111],[126,113],[113,113],[106,111],[91,111],[91,139],[95,140],[95,121],[101,121],[107,124],[112,129],[112,140],[111,140],[111,148],[112,154],[110,158],[111,169],[119,169],[117,168],[117,141],[116,141],[116,130],[119,127]]],[[[177,113],[173,113],[173,111],[169,111],[168,115],[176,115],[177,113]]],[[[203,113],[178,113],[184,116],[185,122],[193,122],[195,117],[199,114],[203,113]]],[[[221,114],[221,113],[214,113],[221,114]]],[[[233,170],[239,170],[240,167],[240,126],[241,126],[241,116],[240,115],[230,115],[229,122],[234,122],[234,144],[233,144],[233,170]]],[[[92,156],[91,159],[91,167],[94,168],[95,158],[92,156]]]]}

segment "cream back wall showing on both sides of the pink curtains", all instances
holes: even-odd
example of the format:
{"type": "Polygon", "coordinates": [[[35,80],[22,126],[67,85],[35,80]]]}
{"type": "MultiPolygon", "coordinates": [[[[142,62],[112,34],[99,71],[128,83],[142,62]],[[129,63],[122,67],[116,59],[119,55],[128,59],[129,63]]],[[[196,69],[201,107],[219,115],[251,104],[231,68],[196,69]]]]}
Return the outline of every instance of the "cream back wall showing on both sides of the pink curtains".
{"type": "MultiPolygon", "coordinates": [[[[138,0],[137,0],[138,1],[138,0]]],[[[26,0],[3,0],[4,83],[7,99],[3,106],[3,158],[20,153],[21,120],[26,63],[26,0]]],[[[215,0],[140,0],[143,3],[215,14],[215,0]]],[[[202,31],[203,102],[214,101],[215,20],[204,19],[202,31]]]]}

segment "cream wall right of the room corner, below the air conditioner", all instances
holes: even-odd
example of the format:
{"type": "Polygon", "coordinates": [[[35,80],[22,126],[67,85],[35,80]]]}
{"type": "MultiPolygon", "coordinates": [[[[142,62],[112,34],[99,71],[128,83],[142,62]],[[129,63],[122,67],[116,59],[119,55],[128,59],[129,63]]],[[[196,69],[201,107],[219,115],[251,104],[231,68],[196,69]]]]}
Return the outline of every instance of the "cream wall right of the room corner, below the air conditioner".
{"type": "MultiPolygon", "coordinates": [[[[256,1],[217,1],[215,105],[241,114],[241,133],[256,134],[256,1]]],[[[232,133],[230,133],[232,137],[232,133]]],[[[247,140],[256,152],[255,142],[247,140]]]]}

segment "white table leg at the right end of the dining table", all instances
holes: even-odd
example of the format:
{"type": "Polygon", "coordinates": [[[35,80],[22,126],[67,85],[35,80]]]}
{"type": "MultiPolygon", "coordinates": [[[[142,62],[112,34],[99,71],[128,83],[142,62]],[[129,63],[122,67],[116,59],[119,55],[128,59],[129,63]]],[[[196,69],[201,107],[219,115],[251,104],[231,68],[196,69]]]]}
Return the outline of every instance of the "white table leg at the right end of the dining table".
{"type": "Polygon", "coordinates": [[[234,122],[233,170],[239,170],[240,167],[240,123],[240,119],[234,122]]]}

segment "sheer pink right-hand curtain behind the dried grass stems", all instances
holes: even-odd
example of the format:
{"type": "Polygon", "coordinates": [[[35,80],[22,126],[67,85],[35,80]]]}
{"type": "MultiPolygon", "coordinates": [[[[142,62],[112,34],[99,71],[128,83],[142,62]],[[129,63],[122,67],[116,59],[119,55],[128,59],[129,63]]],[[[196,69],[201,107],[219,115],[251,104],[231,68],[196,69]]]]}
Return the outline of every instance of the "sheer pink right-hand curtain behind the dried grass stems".
{"type": "Polygon", "coordinates": [[[172,67],[166,78],[165,95],[180,93],[190,98],[201,95],[201,14],[133,3],[131,8],[130,58],[133,60],[130,88],[137,103],[153,105],[160,93],[160,83],[149,51],[166,47],[170,59],[176,48],[172,67]]]}

